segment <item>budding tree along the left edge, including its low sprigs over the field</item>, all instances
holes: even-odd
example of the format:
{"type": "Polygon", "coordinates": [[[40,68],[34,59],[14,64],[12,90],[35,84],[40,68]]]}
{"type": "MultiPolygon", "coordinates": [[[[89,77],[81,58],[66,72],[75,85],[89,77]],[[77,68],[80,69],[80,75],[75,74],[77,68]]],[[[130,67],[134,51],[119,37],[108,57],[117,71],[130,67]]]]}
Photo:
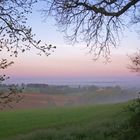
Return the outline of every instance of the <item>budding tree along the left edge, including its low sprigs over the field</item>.
{"type": "MultiPolygon", "coordinates": [[[[0,0],[0,51],[7,50],[11,56],[17,57],[19,52],[25,52],[32,47],[47,56],[52,49],[51,44],[42,44],[41,40],[35,40],[32,28],[26,25],[27,14],[32,13],[32,6],[37,0],[0,0]]],[[[13,64],[6,59],[0,61],[0,69],[5,69],[13,64]]],[[[8,77],[0,75],[0,85],[8,77]]],[[[19,101],[21,89],[15,85],[6,90],[0,89],[0,107],[9,106],[11,102],[19,101]]]]}

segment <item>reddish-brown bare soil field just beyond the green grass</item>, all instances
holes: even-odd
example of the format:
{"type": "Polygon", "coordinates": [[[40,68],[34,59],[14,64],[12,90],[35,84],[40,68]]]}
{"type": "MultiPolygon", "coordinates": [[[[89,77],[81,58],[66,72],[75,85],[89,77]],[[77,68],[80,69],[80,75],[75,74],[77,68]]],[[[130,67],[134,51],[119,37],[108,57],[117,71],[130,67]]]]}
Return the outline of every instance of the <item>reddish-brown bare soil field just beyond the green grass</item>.
{"type": "Polygon", "coordinates": [[[48,95],[41,93],[24,93],[23,99],[12,106],[15,109],[46,108],[50,106],[64,106],[76,104],[80,97],[66,95],[48,95]]]}

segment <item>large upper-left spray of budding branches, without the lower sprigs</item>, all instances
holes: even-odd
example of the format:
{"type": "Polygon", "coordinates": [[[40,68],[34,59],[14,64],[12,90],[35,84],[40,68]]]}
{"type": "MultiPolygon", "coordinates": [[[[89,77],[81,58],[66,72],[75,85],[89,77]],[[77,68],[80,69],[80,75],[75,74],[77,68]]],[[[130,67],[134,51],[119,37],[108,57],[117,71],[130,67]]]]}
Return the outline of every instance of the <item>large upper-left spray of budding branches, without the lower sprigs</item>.
{"type": "Polygon", "coordinates": [[[26,25],[26,15],[32,13],[37,0],[0,0],[0,51],[4,48],[17,56],[18,52],[37,48],[40,53],[50,55],[55,46],[41,44],[35,40],[32,28],[26,25]]]}

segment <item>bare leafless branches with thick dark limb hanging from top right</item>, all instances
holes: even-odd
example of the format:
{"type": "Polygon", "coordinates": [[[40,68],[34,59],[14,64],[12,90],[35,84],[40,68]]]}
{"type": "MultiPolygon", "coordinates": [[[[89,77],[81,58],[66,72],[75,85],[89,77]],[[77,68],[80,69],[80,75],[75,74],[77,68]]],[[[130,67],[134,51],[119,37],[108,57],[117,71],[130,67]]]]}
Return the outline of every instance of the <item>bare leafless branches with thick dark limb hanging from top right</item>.
{"type": "Polygon", "coordinates": [[[71,42],[86,42],[97,59],[108,58],[128,25],[140,25],[140,0],[44,0],[71,42]],[[49,5],[49,6],[48,6],[49,5]]]}

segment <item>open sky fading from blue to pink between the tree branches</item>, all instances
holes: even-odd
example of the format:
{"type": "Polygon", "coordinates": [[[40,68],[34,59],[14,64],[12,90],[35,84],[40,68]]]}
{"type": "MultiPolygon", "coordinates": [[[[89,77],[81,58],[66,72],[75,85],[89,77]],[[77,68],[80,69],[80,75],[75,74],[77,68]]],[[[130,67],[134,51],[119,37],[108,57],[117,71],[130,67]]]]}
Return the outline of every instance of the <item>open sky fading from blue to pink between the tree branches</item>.
{"type": "Polygon", "coordinates": [[[92,54],[88,53],[84,43],[70,45],[64,40],[64,34],[58,31],[53,18],[46,21],[35,7],[28,17],[28,25],[32,26],[37,39],[47,44],[56,45],[56,50],[49,56],[37,55],[37,50],[31,49],[19,54],[17,58],[9,57],[4,52],[1,57],[14,61],[14,65],[2,71],[10,76],[9,82],[43,83],[69,81],[107,81],[107,80],[135,80],[140,79],[136,73],[127,69],[128,55],[137,51],[140,44],[138,35],[130,29],[124,31],[120,45],[111,49],[111,61],[105,63],[100,59],[96,62],[92,54]]]}

